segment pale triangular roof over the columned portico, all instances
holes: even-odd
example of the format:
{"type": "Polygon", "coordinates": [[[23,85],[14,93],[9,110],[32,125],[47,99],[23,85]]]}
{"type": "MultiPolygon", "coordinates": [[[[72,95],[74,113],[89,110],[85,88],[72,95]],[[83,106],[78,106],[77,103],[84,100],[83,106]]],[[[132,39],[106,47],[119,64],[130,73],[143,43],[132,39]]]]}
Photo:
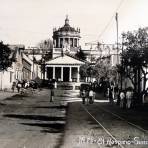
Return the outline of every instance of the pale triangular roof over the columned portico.
{"type": "Polygon", "coordinates": [[[70,57],[68,55],[63,55],[46,62],[46,64],[47,66],[48,65],[83,65],[85,64],[85,62],[75,59],[74,57],[70,57]]]}

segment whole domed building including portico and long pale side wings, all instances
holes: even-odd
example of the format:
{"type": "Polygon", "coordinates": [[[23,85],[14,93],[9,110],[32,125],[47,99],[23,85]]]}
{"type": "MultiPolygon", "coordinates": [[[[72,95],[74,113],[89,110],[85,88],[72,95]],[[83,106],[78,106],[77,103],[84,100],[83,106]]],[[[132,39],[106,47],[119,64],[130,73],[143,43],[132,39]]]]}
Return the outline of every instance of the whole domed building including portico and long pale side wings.
{"type": "MultiPolygon", "coordinates": [[[[115,66],[117,63],[116,50],[108,46],[101,46],[100,49],[82,49],[86,55],[86,61],[76,58],[76,53],[81,49],[79,44],[81,38],[80,28],[71,27],[68,16],[66,16],[65,23],[62,27],[53,29],[52,37],[53,46],[50,49],[44,47],[30,47],[24,50],[24,53],[28,55],[31,60],[35,58],[37,61],[43,61],[44,55],[51,54],[51,59],[49,61],[46,60],[45,63],[41,62],[42,66],[45,65],[46,67],[45,79],[80,82],[80,66],[86,62],[95,65],[99,59],[107,59],[111,66],[115,66]]],[[[25,64],[27,65],[26,62],[25,64]]],[[[41,65],[39,69],[39,77],[43,79],[44,74],[41,72],[41,65]]]]}

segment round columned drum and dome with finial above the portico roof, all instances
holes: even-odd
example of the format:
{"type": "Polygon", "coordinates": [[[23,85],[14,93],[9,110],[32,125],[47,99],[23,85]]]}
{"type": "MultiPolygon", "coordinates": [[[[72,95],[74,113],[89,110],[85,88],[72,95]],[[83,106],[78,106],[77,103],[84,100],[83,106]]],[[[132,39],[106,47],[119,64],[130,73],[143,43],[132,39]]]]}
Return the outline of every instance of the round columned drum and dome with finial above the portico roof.
{"type": "Polygon", "coordinates": [[[53,29],[53,58],[61,55],[62,52],[75,54],[79,49],[79,40],[80,29],[71,27],[68,16],[66,16],[64,26],[59,29],[53,29]]]}

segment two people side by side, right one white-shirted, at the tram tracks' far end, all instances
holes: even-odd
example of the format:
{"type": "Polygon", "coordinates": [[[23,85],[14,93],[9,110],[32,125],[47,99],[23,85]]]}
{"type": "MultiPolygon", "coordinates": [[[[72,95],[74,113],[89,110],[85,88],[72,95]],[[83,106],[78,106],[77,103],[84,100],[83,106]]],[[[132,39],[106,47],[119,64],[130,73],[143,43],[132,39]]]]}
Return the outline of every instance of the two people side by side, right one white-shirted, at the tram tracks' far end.
{"type": "Polygon", "coordinates": [[[82,97],[82,103],[85,104],[85,102],[87,102],[87,104],[93,104],[94,99],[95,99],[95,92],[93,91],[93,89],[90,90],[83,90],[81,93],[81,97],[82,97]]]}

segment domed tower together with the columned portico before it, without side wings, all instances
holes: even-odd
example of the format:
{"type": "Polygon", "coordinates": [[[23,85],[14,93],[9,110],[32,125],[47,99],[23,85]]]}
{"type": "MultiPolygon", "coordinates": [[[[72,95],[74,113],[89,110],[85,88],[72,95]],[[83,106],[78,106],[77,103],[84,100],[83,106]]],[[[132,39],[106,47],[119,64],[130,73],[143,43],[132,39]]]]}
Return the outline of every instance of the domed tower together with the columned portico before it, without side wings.
{"type": "Polygon", "coordinates": [[[69,25],[68,16],[63,27],[53,29],[52,59],[46,62],[46,79],[80,82],[80,66],[84,61],[75,58],[80,49],[80,29],[69,25]]]}

